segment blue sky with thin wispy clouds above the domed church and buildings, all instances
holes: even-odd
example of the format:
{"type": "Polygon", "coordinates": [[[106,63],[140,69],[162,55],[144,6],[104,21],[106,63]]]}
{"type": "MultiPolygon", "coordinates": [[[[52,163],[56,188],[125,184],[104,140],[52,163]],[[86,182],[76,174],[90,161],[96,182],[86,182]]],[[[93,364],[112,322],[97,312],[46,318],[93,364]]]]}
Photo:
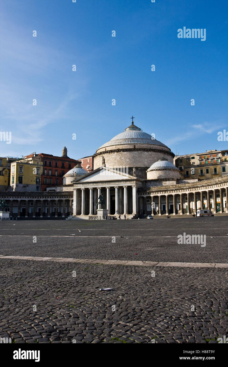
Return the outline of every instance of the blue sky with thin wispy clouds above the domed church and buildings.
{"type": "Polygon", "coordinates": [[[132,115],[175,154],[227,149],[217,140],[228,131],[227,8],[225,0],[1,0],[0,131],[12,142],[0,141],[0,156],[61,155],[64,145],[72,158],[92,155],[132,115]],[[206,40],[177,38],[184,26],[205,28],[206,40]]]}

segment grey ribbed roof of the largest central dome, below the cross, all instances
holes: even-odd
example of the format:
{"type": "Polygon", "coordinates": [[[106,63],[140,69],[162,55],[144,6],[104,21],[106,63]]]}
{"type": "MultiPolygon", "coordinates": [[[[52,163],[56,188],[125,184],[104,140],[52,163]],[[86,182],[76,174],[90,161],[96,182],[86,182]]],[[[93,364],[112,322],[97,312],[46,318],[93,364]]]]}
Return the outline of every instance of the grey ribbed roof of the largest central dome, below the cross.
{"type": "Polygon", "coordinates": [[[107,143],[102,145],[99,149],[106,148],[112,145],[122,145],[131,143],[160,145],[168,148],[165,144],[161,143],[156,139],[153,139],[153,137],[150,134],[147,134],[147,132],[142,131],[139,127],[135,126],[132,123],[123,132],[120,132],[120,134],[116,135],[114,138],[112,138],[107,143]]]}

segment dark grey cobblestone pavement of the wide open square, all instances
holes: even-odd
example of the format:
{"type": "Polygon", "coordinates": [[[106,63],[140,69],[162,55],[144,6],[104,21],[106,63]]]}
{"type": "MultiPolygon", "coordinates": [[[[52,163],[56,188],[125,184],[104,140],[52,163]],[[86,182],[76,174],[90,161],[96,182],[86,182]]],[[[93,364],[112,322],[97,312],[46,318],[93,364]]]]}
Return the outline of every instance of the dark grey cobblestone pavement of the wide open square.
{"type": "MultiPolygon", "coordinates": [[[[202,219],[4,222],[0,254],[227,263],[228,217],[202,219]],[[206,246],[178,245],[183,232],[206,235],[206,246]]],[[[228,334],[226,268],[0,264],[0,337],[16,343],[217,343],[228,334]]]]}

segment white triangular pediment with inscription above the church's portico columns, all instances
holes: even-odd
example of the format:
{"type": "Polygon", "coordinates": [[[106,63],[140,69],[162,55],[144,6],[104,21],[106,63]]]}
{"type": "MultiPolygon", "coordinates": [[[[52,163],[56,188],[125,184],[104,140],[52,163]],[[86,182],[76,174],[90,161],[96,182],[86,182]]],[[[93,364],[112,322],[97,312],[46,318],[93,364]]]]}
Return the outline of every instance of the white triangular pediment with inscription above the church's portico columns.
{"type": "Polygon", "coordinates": [[[74,181],[72,181],[72,183],[80,183],[80,182],[85,183],[85,182],[96,182],[96,181],[106,182],[106,181],[116,181],[116,180],[123,181],[124,179],[132,180],[132,179],[136,179],[136,177],[128,175],[127,173],[124,173],[124,172],[113,170],[112,168],[102,166],[82,177],[76,178],[74,181]]]}

